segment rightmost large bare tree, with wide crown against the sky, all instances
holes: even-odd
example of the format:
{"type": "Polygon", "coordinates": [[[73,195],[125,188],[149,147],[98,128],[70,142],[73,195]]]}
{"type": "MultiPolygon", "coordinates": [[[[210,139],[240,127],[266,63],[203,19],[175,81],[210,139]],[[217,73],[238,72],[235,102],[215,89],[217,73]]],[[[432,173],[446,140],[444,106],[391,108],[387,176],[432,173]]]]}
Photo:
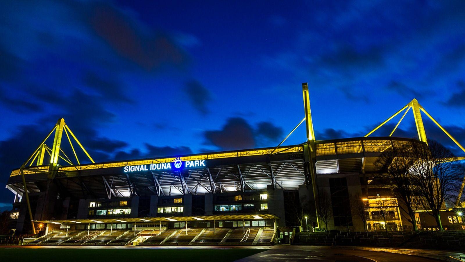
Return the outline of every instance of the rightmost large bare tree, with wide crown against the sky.
{"type": "Polygon", "coordinates": [[[455,156],[450,150],[436,141],[428,141],[428,146],[412,147],[412,157],[416,159],[410,167],[410,173],[417,186],[420,205],[436,220],[439,230],[441,224],[440,209],[447,201],[453,201],[458,195],[463,166],[452,161],[455,156]]]}

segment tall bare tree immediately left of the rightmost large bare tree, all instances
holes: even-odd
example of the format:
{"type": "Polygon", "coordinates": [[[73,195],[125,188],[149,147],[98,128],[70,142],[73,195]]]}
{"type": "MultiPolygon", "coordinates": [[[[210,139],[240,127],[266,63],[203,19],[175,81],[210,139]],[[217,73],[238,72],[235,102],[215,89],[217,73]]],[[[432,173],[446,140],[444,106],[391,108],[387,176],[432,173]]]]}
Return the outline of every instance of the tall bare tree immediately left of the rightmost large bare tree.
{"type": "Polygon", "coordinates": [[[407,143],[393,151],[383,152],[375,162],[380,169],[380,177],[399,201],[399,208],[408,216],[407,221],[412,223],[412,228],[417,231],[414,210],[418,209],[418,201],[415,195],[417,186],[410,168],[418,160],[413,154],[412,147],[424,147],[422,144],[407,143]]]}

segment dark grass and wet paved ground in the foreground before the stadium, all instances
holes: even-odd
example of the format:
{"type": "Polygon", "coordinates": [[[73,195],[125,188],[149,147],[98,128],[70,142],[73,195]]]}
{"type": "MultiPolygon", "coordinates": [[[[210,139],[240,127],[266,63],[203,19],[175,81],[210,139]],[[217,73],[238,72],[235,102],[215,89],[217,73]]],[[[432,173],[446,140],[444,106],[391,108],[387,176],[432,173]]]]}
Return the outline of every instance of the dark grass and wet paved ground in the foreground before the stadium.
{"type": "Polygon", "coordinates": [[[0,261],[452,261],[449,252],[329,246],[0,246],[0,261]],[[397,252],[403,254],[397,254],[397,252]],[[408,252],[407,252],[408,251],[408,252]],[[405,255],[409,254],[409,255],[405,255]],[[23,259],[21,259],[23,258],[23,259]],[[5,260],[4,260],[5,259],[5,260]]]}

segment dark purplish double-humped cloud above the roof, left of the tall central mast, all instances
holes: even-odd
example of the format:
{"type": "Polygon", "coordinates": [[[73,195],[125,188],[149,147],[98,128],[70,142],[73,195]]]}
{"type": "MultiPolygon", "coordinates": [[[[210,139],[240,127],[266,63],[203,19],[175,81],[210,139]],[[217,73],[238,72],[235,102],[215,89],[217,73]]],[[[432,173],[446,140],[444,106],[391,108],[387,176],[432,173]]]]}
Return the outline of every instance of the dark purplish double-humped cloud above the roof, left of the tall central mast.
{"type": "Polygon", "coordinates": [[[282,128],[270,122],[260,122],[253,127],[244,118],[231,117],[221,130],[205,131],[204,137],[206,145],[216,146],[220,150],[237,150],[272,146],[272,143],[279,142],[282,133],[282,128]]]}

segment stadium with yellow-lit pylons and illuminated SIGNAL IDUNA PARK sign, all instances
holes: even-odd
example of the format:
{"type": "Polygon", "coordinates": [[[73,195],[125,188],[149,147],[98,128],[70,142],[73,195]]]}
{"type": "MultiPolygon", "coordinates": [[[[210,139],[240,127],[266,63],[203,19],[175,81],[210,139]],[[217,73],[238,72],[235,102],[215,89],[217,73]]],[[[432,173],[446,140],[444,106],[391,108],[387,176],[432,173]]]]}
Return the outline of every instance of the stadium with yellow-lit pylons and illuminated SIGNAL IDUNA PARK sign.
{"type": "MultiPolygon", "coordinates": [[[[391,197],[376,179],[380,154],[427,143],[421,112],[463,147],[416,99],[372,131],[405,111],[389,136],[316,140],[306,83],[302,90],[305,117],[286,137],[305,123],[299,145],[281,146],[284,138],[270,148],[95,163],[61,118],[11,172],[11,227],[33,234],[24,239],[29,245],[270,245],[301,228],[324,228],[315,200],[327,192],[329,229],[408,229],[399,206],[388,207],[388,222],[371,209],[391,197]],[[410,109],[418,139],[392,137],[410,109]],[[89,163],[81,164],[82,155],[89,163]],[[353,218],[354,195],[370,206],[366,223],[353,218]]],[[[431,228],[418,214],[421,227],[431,228]]]]}

